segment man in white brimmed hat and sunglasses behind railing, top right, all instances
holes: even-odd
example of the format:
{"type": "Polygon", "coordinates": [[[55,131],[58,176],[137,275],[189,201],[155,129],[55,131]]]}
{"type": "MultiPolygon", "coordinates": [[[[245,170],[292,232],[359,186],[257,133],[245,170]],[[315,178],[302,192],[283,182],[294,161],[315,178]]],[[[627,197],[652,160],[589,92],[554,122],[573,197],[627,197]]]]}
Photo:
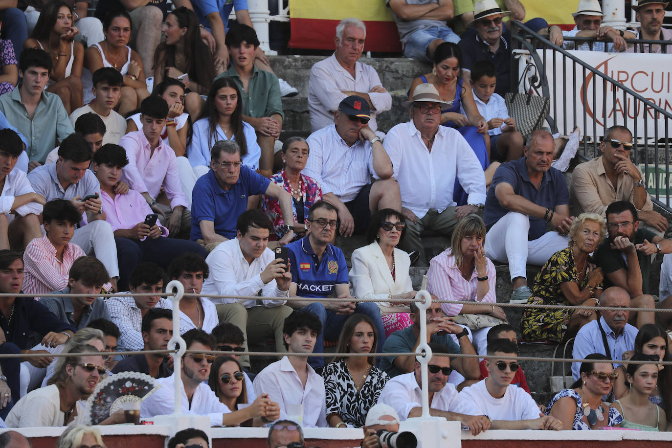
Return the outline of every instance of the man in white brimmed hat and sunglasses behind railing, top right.
{"type": "Polygon", "coordinates": [[[562,42],[562,48],[566,50],[593,50],[602,52],[614,52],[616,50],[616,52],[621,52],[628,49],[628,44],[625,40],[634,39],[635,37],[635,34],[630,31],[616,31],[610,26],[602,26],[604,14],[597,0],[579,1],[577,12],[572,13],[572,17],[574,17],[576,26],[572,30],[563,31],[562,36],[597,38],[597,42],[564,41],[562,42]],[[605,44],[605,41],[607,41],[607,44],[605,44]]]}

